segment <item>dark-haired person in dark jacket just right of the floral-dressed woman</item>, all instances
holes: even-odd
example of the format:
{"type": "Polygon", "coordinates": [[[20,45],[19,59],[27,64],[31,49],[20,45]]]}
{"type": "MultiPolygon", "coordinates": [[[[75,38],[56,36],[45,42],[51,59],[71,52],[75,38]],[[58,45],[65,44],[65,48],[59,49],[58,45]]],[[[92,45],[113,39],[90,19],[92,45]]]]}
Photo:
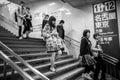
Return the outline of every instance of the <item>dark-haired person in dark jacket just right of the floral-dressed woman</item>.
{"type": "Polygon", "coordinates": [[[57,32],[59,34],[59,37],[63,40],[65,36],[65,30],[63,28],[64,23],[65,23],[64,20],[61,20],[60,23],[57,25],[57,32]]]}

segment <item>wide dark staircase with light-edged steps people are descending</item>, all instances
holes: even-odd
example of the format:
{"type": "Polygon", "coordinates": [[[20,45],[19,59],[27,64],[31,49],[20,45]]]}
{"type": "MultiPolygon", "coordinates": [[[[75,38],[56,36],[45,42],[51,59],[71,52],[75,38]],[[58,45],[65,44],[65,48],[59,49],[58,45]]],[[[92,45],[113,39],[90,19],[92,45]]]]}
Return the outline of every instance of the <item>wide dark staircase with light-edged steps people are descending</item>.
{"type": "MultiPolygon", "coordinates": [[[[51,53],[46,53],[45,42],[42,39],[22,39],[19,40],[15,35],[0,26],[0,41],[11,48],[15,53],[22,57],[27,63],[39,70],[50,80],[75,80],[81,75],[84,68],[79,65],[79,61],[74,59],[72,55],[63,54],[56,59],[56,72],[50,71],[51,53]]],[[[0,47],[9,58],[20,66],[24,71],[31,75],[35,80],[41,80],[35,76],[21,62],[13,58],[6,50],[0,47]]],[[[4,80],[4,62],[0,59],[0,80],[4,80]]],[[[22,77],[13,71],[7,64],[7,80],[23,80],[22,77]],[[12,75],[14,73],[14,75],[12,75]]]]}

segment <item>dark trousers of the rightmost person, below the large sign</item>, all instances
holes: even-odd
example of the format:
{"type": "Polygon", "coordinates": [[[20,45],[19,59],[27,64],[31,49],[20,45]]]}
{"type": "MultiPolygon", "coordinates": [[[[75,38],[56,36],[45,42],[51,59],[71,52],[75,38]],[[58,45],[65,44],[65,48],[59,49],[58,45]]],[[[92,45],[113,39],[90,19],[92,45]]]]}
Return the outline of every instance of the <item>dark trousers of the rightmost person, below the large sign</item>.
{"type": "Polygon", "coordinates": [[[105,72],[106,72],[105,63],[100,55],[96,57],[95,60],[97,63],[95,64],[96,68],[94,71],[94,80],[98,80],[100,70],[102,71],[101,80],[105,80],[105,72]]]}

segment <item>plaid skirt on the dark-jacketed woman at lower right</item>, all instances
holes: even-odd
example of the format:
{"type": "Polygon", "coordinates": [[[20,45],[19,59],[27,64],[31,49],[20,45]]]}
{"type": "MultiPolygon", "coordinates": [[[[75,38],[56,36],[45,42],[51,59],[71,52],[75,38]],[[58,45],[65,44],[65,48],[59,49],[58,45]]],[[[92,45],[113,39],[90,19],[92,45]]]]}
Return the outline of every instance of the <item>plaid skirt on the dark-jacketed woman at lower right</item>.
{"type": "Polygon", "coordinates": [[[96,63],[95,59],[90,55],[90,54],[85,54],[82,57],[82,65],[83,66],[90,66],[90,65],[94,65],[96,63]]]}

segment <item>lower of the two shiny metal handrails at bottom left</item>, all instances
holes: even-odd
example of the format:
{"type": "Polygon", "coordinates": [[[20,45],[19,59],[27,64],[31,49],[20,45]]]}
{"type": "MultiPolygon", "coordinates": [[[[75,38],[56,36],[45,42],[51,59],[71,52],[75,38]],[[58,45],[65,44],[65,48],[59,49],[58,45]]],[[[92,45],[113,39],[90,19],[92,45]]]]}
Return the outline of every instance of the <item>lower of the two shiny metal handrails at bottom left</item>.
{"type": "Polygon", "coordinates": [[[29,74],[23,71],[18,65],[16,65],[7,55],[0,51],[0,57],[12,68],[14,68],[25,80],[34,80],[29,74]]]}

